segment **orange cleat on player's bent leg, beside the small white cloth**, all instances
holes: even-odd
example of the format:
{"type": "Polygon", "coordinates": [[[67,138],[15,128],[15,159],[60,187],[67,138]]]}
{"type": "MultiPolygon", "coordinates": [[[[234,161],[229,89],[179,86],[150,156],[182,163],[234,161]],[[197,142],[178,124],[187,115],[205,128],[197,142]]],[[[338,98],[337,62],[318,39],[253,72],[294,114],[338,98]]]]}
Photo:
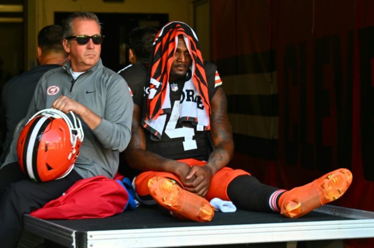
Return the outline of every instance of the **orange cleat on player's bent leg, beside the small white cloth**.
{"type": "Polygon", "coordinates": [[[210,203],[187,190],[174,180],[165,177],[152,177],[148,181],[152,197],[175,217],[198,222],[211,221],[214,207],[210,203]]]}

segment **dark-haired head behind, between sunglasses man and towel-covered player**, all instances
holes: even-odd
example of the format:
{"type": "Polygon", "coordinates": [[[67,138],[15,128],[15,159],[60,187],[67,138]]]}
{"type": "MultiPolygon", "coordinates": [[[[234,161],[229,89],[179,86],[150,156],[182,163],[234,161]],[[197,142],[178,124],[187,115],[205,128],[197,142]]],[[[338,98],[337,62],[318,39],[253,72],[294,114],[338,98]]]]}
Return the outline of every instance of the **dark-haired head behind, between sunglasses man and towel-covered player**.
{"type": "Polygon", "coordinates": [[[137,61],[148,64],[151,53],[152,44],[158,30],[153,27],[137,27],[129,34],[129,61],[135,64],[137,61]]]}

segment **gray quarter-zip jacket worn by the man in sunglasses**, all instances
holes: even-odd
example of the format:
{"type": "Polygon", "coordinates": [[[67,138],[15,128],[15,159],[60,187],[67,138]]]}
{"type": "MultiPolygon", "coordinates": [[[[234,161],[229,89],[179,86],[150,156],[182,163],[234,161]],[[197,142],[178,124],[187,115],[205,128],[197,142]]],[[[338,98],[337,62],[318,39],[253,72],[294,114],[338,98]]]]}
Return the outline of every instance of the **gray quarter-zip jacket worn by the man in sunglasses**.
{"type": "Polygon", "coordinates": [[[69,62],[41,77],[25,122],[12,141],[2,166],[17,161],[17,140],[27,120],[37,111],[51,108],[60,95],[66,95],[102,117],[101,123],[93,130],[81,120],[84,140],[74,170],[83,178],[96,175],[113,178],[118,169],[119,153],[125,150],[131,138],[134,105],[129,87],[120,75],[104,67],[101,59],[76,80],[73,80],[70,68],[69,62]]]}

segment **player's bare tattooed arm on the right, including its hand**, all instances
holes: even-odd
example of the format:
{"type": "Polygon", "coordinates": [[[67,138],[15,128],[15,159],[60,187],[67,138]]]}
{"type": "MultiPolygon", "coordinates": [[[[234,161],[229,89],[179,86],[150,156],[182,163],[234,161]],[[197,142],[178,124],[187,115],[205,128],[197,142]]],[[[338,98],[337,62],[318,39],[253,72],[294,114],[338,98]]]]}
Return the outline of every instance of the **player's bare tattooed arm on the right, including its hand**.
{"type": "Polygon", "coordinates": [[[227,116],[227,99],[222,88],[219,88],[210,101],[210,136],[214,150],[210,154],[205,166],[192,166],[186,179],[193,175],[193,182],[186,183],[188,191],[205,196],[211,178],[222,167],[226,166],[232,159],[234,153],[234,142],[232,139],[231,124],[227,116]]]}

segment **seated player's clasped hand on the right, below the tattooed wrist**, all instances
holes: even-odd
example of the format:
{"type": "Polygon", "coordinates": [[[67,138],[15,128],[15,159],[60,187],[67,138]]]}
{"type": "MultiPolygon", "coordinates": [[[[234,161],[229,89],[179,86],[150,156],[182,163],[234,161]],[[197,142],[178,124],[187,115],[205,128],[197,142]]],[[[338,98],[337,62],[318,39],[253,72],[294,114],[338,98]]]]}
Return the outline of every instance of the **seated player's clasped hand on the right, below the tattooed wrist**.
{"type": "Polygon", "coordinates": [[[185,183],[185,189],[201,197],[205,197],[209,190],[212,177],[213,172],[209,167],[194,165],[190,168],[186,176],[186,180],[192,181],[185,183]]]}

